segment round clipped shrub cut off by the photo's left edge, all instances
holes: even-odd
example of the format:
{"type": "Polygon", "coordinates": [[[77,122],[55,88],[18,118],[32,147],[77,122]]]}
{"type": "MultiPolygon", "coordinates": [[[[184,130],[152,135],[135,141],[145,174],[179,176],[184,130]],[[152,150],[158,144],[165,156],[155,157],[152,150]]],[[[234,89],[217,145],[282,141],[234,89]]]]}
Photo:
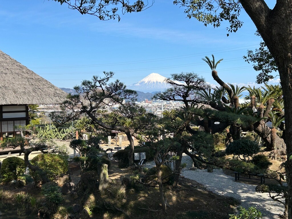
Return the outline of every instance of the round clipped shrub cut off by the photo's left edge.
{"type": "Polygon", "coordinates": [[[7,157],[1,164],[1,181],[17,180],[25,172],[25,162],[19,157],[7,157]]]}

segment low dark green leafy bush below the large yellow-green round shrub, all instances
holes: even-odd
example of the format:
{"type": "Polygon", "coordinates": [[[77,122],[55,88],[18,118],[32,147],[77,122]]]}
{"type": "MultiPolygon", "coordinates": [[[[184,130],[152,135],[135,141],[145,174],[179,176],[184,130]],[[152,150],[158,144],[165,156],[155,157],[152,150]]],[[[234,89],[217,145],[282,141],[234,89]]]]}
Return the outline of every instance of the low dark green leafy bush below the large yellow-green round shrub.
{"type": "Polygon", "coordinates": [[[45,196],[48,207],[58,205],[63,201],[60,187],[56,183],[45,183],[41,187],[41,193],[45,196]]]}

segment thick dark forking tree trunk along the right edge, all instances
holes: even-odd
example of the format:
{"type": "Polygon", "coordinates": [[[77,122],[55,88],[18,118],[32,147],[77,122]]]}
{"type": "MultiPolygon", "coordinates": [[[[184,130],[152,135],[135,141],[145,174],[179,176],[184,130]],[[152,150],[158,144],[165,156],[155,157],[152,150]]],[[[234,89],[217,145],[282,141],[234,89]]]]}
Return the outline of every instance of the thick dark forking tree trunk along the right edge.
{"type": "Polygon", "coordinates": [[[281,79],[288,157],[288,217],[292,218],[292,0],[278,0],[273,10],[263,0],[240,0],[273,55],[281,79]]]}

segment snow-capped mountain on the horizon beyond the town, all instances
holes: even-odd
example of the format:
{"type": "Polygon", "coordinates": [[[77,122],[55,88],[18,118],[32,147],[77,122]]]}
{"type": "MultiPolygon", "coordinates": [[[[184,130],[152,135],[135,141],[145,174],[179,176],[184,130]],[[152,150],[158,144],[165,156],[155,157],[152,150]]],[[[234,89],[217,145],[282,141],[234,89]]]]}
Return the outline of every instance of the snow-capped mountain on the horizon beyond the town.
{"type": "Polygon", "coordinates": [[[160,74],[151,73],[141,81],[127,86],[127,88],[142,92],[161,91],[170,86],[170,84],[166,83],[165,79],[166,77],[160,74]]]}

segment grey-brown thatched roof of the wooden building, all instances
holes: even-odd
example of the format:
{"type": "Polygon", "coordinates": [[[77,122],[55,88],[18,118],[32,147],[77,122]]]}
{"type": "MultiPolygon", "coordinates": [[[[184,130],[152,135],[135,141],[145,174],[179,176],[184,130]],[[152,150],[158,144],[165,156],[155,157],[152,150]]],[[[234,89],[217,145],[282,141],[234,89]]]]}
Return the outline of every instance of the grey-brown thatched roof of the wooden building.
{"type": "Polygon", "coordinates": [[[0,105],[60,104],[66,95],[0,50],[0,105]]]}

